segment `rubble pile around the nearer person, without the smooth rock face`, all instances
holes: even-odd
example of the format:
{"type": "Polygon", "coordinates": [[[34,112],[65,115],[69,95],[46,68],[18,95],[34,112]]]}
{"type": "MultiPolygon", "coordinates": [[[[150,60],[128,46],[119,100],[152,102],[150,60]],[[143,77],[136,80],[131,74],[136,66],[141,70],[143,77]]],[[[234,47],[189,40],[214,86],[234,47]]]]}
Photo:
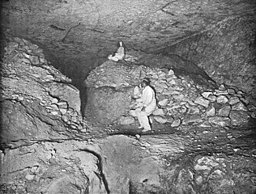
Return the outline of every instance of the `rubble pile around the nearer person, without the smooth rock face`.
{"type": "MultiPolygon", "coordinates": [[[[181,124],[198,124],[203,127],[231,126],[247,122],[250,116],[255,118],[255,106],[250,105],[249,110],[249,101],[237,88],[222,84],[218,89],[203,91],[202,86],[194,84],[190,79],[178,78],[173,70],[106,61],[92,71],[86,85],[112,86],[119,90],[137,86],[134,92],[138,92],[138,85],[144,77],[150,78],[159,105],[150,116],[152,123],[170,123],[173,127],[181,124]]],[[[118,122],[133,124],[136,118],[134,109],[139,103],[140,99],[135,102],[131,100],[130,110],[127,110],[127,114],[121,116],[118,122]]]]}

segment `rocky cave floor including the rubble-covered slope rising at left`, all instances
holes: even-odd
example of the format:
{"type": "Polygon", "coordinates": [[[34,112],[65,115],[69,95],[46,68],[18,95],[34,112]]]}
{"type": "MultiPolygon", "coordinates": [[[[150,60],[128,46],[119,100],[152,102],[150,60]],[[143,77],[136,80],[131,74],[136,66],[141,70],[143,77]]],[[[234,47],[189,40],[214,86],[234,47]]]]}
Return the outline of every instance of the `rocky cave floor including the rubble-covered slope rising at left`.
{"type": "Polygon", "coordinates": [[[149,133],[137,121],[87,120],[79,91],[42,50],[10,41],[2,69],[0,193],[255,193],[254,118],[236,127],[155,120],[149,133]]]}

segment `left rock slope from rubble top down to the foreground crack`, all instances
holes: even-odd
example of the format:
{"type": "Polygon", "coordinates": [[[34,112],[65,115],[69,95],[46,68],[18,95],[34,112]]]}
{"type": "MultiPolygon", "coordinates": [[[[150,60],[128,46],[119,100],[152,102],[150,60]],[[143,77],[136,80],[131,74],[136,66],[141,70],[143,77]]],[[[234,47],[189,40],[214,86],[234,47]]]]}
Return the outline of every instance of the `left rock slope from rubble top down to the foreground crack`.
{"type": "Polygon", "coordinates": [[[11,37],[1,77],[0,193],[107,193],[97,156],[67,142],[88,129],[70,78],[36,44],[11,37]]]}

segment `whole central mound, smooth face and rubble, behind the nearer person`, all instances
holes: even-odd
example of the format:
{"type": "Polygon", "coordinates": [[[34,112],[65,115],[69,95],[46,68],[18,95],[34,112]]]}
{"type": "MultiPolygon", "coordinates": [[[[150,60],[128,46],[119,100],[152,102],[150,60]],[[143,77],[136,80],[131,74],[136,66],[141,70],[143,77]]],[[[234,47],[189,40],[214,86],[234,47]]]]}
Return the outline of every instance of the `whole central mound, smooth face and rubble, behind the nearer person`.
{"type": "MultiPolygon", "coordinates": [[[[151,59],[156,58],[151,57],[151,59]]],[[[174,122],[173,126],[177,126],[175,119],[178,119],[183,120],[183,125],[203,124],[203,122],[209,121],[207,117],[218,115],[224,118],[220,119],[218,116],[214,119],[211,118],[208,124],[218,125],[219,120],[219,125],[224,126],[228,125],[228,116],[231,109],[246,112],[246,106],[241,103],[243,92],[241,92],[241,97],[236,95],[238,91],[233,92],[233,95],[228,94],[230,88],[223,84],[215,87],[213,91],[204,91],[203,88],[206,88],[208,84],[203,86],[201,82],[201,85],[197,85],[193,79],[189,77],[177,78],[175,71],[171,75],[169,75],[169,71],[133,63],[127,65],[123,62],[117,64],[112,61],[105,62],[92,70],[92,73],[85,80],[86,86],[92,87],[87,89],[85,114],[94,116],[102,124],[110,124],[120,116],[133,116],[135,123],[130,122],[130,124],[138,124],[135,109],[142,106],[142,99],[137,99],[142,92],[138,84],[144,77],[150,78],[151,86],[156,91],[156,99],[158,99],[160,107],[152,113],[156,116],[154,119],[156,123],[172,124],[174,122]],[[114,95],[110,96],[103,92],[110,90],[110,88],[112,88],[112,91],[121,92],[122,95],[116,98],[114,95]],[[239,103],[233,104],[237,101],[236,98],[238,98],[239,103]],[[228,99],[231,99],[231,101],[228,99]],[[109,102],[108,100],[111,103],[106,103],[109,102]],[[233,105],[231,106],[230,103],[233,105]],[[169,116],[171,119],[169,119],[169,116]],[[175,117],[174,120],[173,116],[175,117]],[[102,120],[102,117],[105,117],[105,119],[102,120]]],[[[115,92],[110,93],[114,94],[115,92]]],[[[243,121],[241,119],[241,123],[243,121]]]]}

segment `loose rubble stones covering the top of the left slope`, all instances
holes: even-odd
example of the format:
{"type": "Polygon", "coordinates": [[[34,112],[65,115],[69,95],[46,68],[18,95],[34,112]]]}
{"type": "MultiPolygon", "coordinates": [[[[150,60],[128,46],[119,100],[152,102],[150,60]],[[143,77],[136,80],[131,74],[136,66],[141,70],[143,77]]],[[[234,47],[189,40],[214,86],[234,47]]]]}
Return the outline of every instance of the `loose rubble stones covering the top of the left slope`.
{"type": "MultiPolygon", "coordinates": [[[[79,111],[71,108],[66,100],[49,95],[51,91],[59,90],[54,83],[68,84],[71,80],[49,65],[41,48],[28,40],[11,38],[3,61],[6,77],[2,78],[5,86],[2,99],[38,102],[51,116],[58,116],[71,129],[86,131],[86,123],[79,111]]],[[[67,87],[72,92],[73,89],[69,85],[67,87]]]]}

